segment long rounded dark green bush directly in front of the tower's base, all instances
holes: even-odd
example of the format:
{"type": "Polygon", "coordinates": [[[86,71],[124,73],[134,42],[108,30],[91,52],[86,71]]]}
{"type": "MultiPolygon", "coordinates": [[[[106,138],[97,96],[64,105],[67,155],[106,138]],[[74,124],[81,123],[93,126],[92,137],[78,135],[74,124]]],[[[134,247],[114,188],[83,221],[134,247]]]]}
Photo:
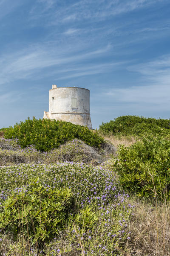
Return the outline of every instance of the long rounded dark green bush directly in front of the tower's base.
{"type": "Polygon", "coordinates": [[[71,122],[50,119],[27,119],[25,122],[10,127],[5,133],[6,139],[17,138],[20,145],[26,148],[35,145],[40,151],[58,148],[60,144],[75,138],[86,144],[100,148],[104,142],[102,137],[85,126],[74,125],[71,122]]]}

